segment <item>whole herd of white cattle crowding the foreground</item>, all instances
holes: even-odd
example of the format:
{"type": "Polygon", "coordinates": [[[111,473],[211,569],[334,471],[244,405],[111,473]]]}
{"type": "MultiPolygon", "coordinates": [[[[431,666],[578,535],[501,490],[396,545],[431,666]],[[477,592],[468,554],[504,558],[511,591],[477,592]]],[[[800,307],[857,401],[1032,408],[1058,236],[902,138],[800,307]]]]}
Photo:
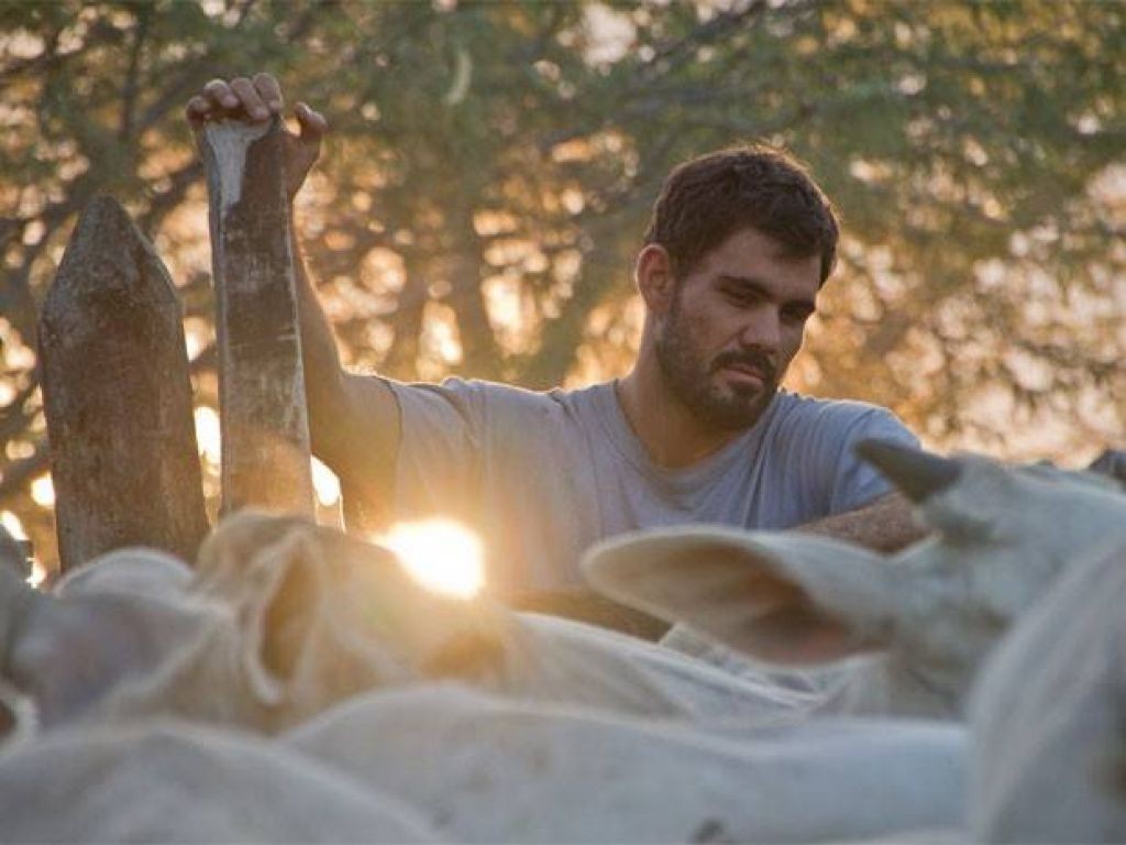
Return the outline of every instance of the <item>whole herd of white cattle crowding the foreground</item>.
{"type": "Polygon", "coordinates": [[[1124,842],[1126,495],[866,456],[930,535],[614,539],[661,643],[242,514],[194,567],[0,566],[0,839],[1124,842]]]}

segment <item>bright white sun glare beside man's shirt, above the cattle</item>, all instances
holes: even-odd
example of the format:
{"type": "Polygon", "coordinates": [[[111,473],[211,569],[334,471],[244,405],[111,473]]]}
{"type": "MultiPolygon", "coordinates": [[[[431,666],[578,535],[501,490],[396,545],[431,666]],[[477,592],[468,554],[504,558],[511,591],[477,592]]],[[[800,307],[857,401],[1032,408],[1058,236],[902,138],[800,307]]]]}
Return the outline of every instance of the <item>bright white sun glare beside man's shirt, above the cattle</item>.
{"type": "Polygon", "coordinates": [[[481,540],[461,523],[452,519],[400,523],[379,542],[427,589],[472,598],[484,587],[481,540]]]}

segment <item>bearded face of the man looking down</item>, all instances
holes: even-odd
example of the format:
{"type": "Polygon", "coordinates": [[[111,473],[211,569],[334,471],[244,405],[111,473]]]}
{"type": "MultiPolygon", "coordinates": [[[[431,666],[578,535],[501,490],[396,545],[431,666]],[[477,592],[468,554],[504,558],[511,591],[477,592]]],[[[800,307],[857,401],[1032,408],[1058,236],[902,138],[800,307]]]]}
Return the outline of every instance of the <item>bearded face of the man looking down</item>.
{"type": "Polygon", "coordinates": [[[778,390],[802,346],[821,282],[821,259],[789,258],[743,229],[677,283],[658,326],[656,361],[670,391],[700,421],[748,428],[778,390]]]}

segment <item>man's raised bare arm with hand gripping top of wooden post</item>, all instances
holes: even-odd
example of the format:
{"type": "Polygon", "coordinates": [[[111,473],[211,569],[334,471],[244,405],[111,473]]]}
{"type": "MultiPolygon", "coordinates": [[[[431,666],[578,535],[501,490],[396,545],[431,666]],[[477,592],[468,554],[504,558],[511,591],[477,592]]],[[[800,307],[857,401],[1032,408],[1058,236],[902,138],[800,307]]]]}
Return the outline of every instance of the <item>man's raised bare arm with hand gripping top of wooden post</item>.
{"type": "MultiPolygon", "coordinates": [[[[186,108],[197,135],[212,121],[260,123],[284,114],[280,86],[268,73],[252,79],[213,79],[186,108]]],[[[286,190],[291,203],[320,157],[328,132],[323,115],[307,104],[298,103],[294,114],[300,133],[286,132],[286,190]]],[[[386,502],[399,450],[395,398],[381,380],[348,373],[341,366],[336,336],[302,259],[296,229],[294,221],[297,310],[313,452],[340,477],[347,497],[386,502]]]]}

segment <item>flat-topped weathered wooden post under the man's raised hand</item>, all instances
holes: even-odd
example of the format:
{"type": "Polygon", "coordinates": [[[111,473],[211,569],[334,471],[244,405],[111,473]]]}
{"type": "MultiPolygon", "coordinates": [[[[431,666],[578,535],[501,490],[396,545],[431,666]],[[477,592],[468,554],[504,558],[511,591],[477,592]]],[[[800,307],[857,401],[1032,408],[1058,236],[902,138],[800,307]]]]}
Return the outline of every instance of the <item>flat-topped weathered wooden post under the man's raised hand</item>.
{"type": "Polygon", "coordinates": [[[280,121],[204,132],[223,438],[223,513],[312,516],[309,419],[280,121]]]}

